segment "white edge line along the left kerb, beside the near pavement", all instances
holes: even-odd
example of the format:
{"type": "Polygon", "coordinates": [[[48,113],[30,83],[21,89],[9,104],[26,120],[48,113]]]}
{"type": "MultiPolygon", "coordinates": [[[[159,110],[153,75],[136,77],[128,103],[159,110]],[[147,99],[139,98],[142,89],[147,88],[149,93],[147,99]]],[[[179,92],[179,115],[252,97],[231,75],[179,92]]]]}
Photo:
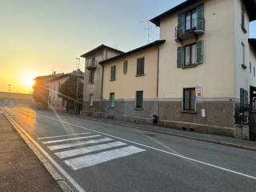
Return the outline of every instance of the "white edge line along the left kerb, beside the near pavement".
{"type": "MultiPolygon", "coordinates": [[[[5,111],[4,111],[4,114],[6,114],[5,111]]],[[[66,178],[66,180],[68,180],[74,186],[76,190],[78,190],[79,192],[86,192],[86,190],[84,190],[82,186],[80,186],[78,182],[76,182],[74,178],[72,178],[70,174],[68,174],[66,170],[62,168],[62,166],[60,166],[57,162],[55,162],[53,158],[50,157],[50,154],[48,154],[45,150],[42,149],[42,147],[38,144],[38,142],[35,142],[34,139],[30,137],[30,135],[27,134],[25,130],[23,130],[22,126],[19,126],[18,123],[15,122],[13,118],[8,116],[8,114],[6,114],[6,117],[10,120],[10,122],[13,124],[14,127],[21,130],[21,132],[26,136],[26,138],[30,140],[34,144],[34,146],[36,146],[38,150],[40,150],[42,154],[46,156],[46,158],[48,158],[48,160],[56,167],[56,169],[58,169],[58,171],[66,178]]]]}

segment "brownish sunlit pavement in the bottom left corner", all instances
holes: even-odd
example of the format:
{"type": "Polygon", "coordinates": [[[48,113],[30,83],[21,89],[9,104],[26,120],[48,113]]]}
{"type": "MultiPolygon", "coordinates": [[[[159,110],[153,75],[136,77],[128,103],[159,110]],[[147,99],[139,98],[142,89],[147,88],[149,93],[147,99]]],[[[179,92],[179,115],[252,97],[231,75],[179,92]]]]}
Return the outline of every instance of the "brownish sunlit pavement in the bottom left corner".
{"type": "Polygon", "coordinates": [[[0,191],[62,191],[1,110],[0,191]]]}

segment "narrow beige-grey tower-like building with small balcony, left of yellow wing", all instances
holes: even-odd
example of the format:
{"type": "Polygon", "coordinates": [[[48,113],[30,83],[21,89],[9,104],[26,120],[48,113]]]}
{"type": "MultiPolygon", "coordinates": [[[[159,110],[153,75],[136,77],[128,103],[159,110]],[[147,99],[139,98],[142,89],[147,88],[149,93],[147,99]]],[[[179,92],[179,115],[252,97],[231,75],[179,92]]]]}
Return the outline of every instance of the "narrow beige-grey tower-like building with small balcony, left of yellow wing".
{"type": "Polygon", "coordinates": [[[83,113],[98,114],[102,110],[102,75],[103,69],[99,62],[122,54],[110,46],[101,45],[82,54],[86,59],[85,82],[83,84],[83,113]]]}

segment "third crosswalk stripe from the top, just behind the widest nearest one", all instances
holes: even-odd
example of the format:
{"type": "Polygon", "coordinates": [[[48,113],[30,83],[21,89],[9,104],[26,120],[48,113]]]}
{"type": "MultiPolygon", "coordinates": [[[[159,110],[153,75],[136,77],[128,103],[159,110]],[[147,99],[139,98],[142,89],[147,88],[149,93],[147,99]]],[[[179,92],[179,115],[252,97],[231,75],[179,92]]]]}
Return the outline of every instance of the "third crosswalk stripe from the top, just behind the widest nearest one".
{"type": "Polygon", "coordinates": [[[90,152],[98,151],[98,150],[106,150],[117,146],[125,146],[126,143],[123,142],[110,142],[106,144],[101,144],[97,146],[87,146],[80,149],[74,149],[74,150],[65,150],[61,152],[55,153],[58,158],[70,158],[78,154],[88,154],[90,152]]]}

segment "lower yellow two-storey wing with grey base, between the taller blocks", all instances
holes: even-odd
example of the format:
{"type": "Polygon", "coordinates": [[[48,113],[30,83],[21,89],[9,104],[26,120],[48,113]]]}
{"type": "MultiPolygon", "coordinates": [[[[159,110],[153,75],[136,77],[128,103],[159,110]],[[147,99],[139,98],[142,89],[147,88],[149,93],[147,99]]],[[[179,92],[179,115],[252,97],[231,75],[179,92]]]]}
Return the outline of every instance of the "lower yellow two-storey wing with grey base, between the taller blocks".
{"type": "Polygon", "coordinates": [[[164,42],[152,42],[101,62],[103,117],[151,122],[158,114],[158,53],[164,42]]]}

